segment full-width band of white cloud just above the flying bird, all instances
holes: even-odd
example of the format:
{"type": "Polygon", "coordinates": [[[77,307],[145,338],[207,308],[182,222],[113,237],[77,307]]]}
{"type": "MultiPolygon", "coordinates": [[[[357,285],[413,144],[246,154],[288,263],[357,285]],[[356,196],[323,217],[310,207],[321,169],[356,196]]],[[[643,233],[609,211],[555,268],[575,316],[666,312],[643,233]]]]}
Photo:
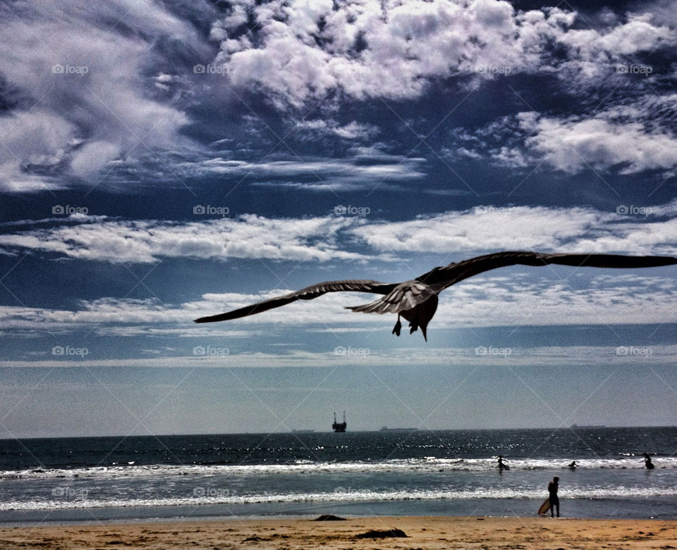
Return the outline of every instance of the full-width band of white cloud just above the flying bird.
{"type": "MultiPolygon", "coordinates": [[[[186,209],[195,206],[188,204],[186,209]]],[[[195,222],[73,215],[55,227],[0,235],[0,250],[111,263],[163,258],[366,262],[393,261],[391,252],[409,257],[516,249],[677,255],[676,208],[675,201],[662,206],[618,204],[607,212],[487,205],[402,222],[384,222],[374,215],[264,218],[246,214],[195,222]],[[365,252],[365,244],[372,253],[365,252]]]]}

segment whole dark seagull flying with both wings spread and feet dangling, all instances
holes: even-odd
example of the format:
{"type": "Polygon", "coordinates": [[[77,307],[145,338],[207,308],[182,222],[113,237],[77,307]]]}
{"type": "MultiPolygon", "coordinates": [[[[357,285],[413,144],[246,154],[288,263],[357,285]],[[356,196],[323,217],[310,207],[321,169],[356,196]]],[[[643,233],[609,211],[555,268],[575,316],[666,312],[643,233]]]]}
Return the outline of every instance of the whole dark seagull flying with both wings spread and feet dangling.
{"type": "Polygon", "coordinates": [[[279,308],[296,300],[312,300],[327,292],[372,292],[384,294],[382,298],[361,306],[346,309],[361,313],[397,313],[393,334],[399,336],[402,329],[400,317],[409,321],[409,333],[421,329],[427,342],[428,323],[437,310],[437,295],[444,289],[456,285],[472,275],[484,273],[508,265],[572,265],[575,268],[655,268],[673,265],[677,258],[672,256],[621,256],[617,254],[540,254],[539,252],[510,251],[477,256],[469,260],[450,263],[405,282],[379,282],[372,280],[344,280],[320,282],[290,294],[243,308],[195,319],[195,323],[214,323],[262,313],[279,308]]]}

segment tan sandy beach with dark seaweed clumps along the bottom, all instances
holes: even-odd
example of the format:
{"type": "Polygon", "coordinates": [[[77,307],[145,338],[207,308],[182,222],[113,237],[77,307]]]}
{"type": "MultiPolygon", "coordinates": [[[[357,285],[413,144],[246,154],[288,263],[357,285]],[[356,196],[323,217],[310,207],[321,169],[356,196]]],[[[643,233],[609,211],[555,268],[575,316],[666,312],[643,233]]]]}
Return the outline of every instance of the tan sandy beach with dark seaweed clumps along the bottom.
{"type": "Polygon", "coordinates": [[[677,520],[379,517],[7,527],[0,549],[673,549],[677,520]],[[400,535],[394,537],[392,535],[400,535]],[[402,535],[406,535],[403,537],[402,535]]]}

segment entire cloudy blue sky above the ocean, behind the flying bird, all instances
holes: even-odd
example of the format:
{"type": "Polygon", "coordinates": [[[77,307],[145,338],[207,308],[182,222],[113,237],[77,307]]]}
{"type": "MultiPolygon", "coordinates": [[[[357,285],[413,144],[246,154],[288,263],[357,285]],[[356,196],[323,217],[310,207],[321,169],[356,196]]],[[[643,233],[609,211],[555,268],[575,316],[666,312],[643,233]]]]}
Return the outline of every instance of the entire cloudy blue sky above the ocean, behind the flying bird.
{"type": "Polygon", "coordinates": [[[677,256],[677,2],[0,2],[0,437],[677,425],[675,266],[420,332],[325,280],[677,256]]]}

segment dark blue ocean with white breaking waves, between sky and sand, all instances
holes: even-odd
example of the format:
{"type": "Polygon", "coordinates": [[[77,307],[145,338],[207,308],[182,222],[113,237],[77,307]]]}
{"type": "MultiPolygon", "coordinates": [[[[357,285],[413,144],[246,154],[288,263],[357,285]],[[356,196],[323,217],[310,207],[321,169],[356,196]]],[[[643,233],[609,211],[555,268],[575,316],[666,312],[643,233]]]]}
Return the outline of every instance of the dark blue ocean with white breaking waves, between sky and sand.
{"type": "Polygon", "coordinates": [[[0,524],[529,516],[555,475],[564,517],[676,519],[676,451],[677,427],[4,439],[0,524]]]}

